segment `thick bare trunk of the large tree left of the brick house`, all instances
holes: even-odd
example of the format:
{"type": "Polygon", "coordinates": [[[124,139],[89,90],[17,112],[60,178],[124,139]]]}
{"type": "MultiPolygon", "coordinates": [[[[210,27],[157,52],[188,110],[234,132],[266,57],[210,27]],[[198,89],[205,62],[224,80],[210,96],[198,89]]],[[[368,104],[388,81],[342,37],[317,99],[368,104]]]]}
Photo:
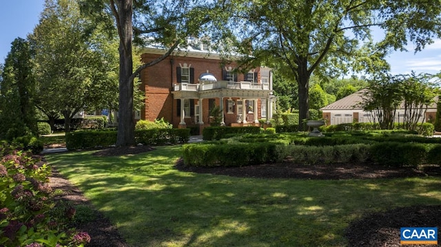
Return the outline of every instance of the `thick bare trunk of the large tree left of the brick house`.
{"type": "Polygon", "coordinates": [[[116,146],[134,144],[132,0],[121,0],[119,14],[119,120],[116,146]]]}

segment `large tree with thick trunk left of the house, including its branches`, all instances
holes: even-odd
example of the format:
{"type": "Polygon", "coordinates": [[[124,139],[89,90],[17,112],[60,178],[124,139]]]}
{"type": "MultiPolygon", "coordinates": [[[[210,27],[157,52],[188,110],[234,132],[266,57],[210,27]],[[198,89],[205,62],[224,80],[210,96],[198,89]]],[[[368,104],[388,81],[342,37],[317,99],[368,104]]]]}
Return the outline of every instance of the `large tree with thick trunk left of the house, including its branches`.
{"type": "Polygon", "coordinates": [[[119,36],[119,125],[116,146],[134,144],[134,78],[145,67],[156,65],[169,56],[187,37],[198,36],[217,14],[225,14],[212,3],[198,0],[101,0],[80,1],[84,13],[106,21],[112,14],[119,36]],[[107,8],[108,7],[108,8],[107,8]],[[106,11],[109,10],[110,12],[106,11]],[[104,18],[103,18],[104,17],[104,18]],[[135,36],[133,36],[135,34],[135,36]],[[133,69],[132,42],[162,44],[165,54],[133,69]]]}

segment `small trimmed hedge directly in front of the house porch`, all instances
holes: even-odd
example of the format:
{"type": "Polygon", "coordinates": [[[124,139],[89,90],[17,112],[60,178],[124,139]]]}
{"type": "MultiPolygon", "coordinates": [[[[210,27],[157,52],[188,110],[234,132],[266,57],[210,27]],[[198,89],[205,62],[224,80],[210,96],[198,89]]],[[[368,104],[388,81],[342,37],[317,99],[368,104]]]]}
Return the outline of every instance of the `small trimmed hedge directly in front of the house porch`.
{"type": "Polygon", "coordinates": [[[262,129],[256,126],[247,127],[205,127],[202,131],[203,140],[220,140],[234,134],[260,133],[262,129]]]}

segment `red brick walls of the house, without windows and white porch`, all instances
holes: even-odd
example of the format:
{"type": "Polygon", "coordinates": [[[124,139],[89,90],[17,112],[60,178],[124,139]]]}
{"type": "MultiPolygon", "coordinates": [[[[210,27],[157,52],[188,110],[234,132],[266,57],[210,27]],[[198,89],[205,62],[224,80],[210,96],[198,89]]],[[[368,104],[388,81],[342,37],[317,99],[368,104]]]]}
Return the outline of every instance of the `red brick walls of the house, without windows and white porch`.
{"type": "MultiPolygon", "coordinates": [[[[150,50],[151,51],[151,50],[150,50]]],[[[161,52],[145,52],[141,56],[141,61],[143,63],[149,63],[154,61],[156,58],[161,56],[161,52]]],[[[212,74],[218,81],[225,80],[225,67],[234,68],[234,64],[229,65],[221,65],[220,58],[213,56],[210,57],[209,54],[172,54],[165,58],[160,63],[157,63],[154,66],[147,67],[143,69],[141,72],[141,89],[145,92],[145,107],[141,111],[141,119],[144,120],[155,120],[164,118],[168,122],[171,122],[174,127],[178,127],[180,124],[182,125],[182,121],[185,121],[185,125],[187,127],[198,125],[201,126],[201,122],[198,122],[196,119],[196,115],[199,112],[196,111],[195,105],[201,105],[202,101],[202,118],[203,125],[209,125],[209,101],[214,101],[216,105],[220,105],[220,100],[223,100],[223,120],[225,125],[231,125],[232,123],[236,123],[238,119],[238,115],[242,115],[241,113],[236,112],[237,105],[234,106],[233,112],[228,112],[227,100],[233,100],[236,103],[236,100],[257,100],[257,108],[258,114],[245,114],[245,120],[249,119],[253,122],[256,122],[254,118],[261,118],[262,108],[261,108],[261,99],[268,98],[271,90],[268,88],[267,90],[245,90],[244,89],[212,89],[207,90],[209,94],[205,94],[205,96],[194,96],[197,92],[193,90],[192,96],[188,96],[185,92],[179,92],[180,98],[175,98],[174,88],[175,85],[179,85],[178,81],[179,76],[181,74],[181,66],[189,67],[190,69],[190,82],[185,84],[191,84],[192,86],[202,87],[203,83],[198,81],[198,78],[201,74],[209,72],[212,74]],[[185,66],[186,65],[186,66],[185,66]],[[223,90],[223,91],[222,91],[223,90]],[[190,111],[191,116],[187,116],[185,114],[185,118],[181,118],[181,109],[180,105],[183,101],[180,101],[181,98],[185,98],[186,100],[190,100],[190,111]]],[[[261,84],[261,73],[260,67],[254,69],[254,77],[256,78],[254,85],[261,84]]],[[[269,71],[269,69],[267,69],[269,71]]],[[[267,72],[269,74],[269,72],[267,72]]],[[[270,77],[267,76],[268,85],[270,81],[270,77]]],[[[237,74],[235,77],[235,81],[243,82],[247,80],[247,73],[245,74],[237,74]]],[[[265,80],[266,81],[266,80],[265,80]]],[[[225,81],[225,83],[227,83],[225,81]]],[[[184,84],[184,83],[183,83],[184,84]]],[[[226,84],[225,84],[226,85],[226,84]]],[[[272,88],[272,87],[271,87],[272,88]]],[[[198,89],[201,91],[201,89],[198,89]]],[[[205,93],[207,93],[205,92],[205,93]]],[[[175,92],[176,93],[176,92],[175,92]]],[[[200,115],[200,114],[199,114],[200,115]]]]}

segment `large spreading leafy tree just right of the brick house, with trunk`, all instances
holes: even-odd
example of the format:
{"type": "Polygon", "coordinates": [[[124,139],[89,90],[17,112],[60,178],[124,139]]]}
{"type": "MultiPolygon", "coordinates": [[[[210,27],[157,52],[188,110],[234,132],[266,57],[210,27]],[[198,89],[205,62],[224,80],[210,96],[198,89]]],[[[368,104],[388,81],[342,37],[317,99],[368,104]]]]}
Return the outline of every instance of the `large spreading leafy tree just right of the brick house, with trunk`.
{"type": "MultiPolygon", "coordinates": [[[[230,32],[237,33],[238,52],[282,63],[298,83],[300,122],[309,109],[312,74],[335,76],[350,71],[376,72],[389,65],[390,49],[416,51],[441,36],[441,5],[418,0],[275,0],[232,1],[230,32]],[[373,43],[371,27],[385,32],[373,43]]],[[[229,39],[234,36],[229,35],[229,39]]],[[[301,128],[302,125],[299,125],[301,128]]]]}

